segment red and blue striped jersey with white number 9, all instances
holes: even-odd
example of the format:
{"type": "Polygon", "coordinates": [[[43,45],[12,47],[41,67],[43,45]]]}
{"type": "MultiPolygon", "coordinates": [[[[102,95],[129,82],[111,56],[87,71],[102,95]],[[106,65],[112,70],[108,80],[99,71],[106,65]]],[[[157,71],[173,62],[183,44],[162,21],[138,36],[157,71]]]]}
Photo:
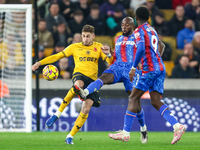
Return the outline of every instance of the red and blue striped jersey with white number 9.
{"type": "Polygon", "coordinates": [[[157,32],[148,23],[140,25],[134,31],[136,44],[144,42],[145,52],[141,58],[141,70],[143,71],[163,71],[164,63],[158,52],[158,35],[157,32]]]}

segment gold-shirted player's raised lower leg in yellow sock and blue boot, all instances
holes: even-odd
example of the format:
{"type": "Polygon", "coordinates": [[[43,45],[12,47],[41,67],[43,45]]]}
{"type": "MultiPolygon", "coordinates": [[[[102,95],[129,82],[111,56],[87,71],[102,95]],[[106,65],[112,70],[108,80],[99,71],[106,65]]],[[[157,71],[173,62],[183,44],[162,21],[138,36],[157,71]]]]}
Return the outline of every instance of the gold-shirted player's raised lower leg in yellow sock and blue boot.
{"type": "Polygon", "coordinates": [[[68,91],[67,95],[65,96],[64,100],[62,101],[59,109],[56,111],[53,116],[51,116],[47,121],[46,121],[46,126],[51,127],[58,118],[60,118],[63,110],[65,107],[71,102],[71,100],[76,96],[73,87],[68,91]]]}

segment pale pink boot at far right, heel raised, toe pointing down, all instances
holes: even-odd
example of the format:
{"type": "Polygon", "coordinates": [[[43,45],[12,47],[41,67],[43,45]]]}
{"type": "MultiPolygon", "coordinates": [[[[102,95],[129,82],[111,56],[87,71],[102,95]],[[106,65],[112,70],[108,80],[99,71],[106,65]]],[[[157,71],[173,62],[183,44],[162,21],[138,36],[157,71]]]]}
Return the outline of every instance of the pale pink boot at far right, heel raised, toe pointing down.
{"type": "Polygon", "coordinates": [[[185,133],[185,127],[184,125],[177,123],[173,126],[174,128],[174,138],[171,142],[171,144],[176,144],[180,139],[183,133],[185,133]]]}

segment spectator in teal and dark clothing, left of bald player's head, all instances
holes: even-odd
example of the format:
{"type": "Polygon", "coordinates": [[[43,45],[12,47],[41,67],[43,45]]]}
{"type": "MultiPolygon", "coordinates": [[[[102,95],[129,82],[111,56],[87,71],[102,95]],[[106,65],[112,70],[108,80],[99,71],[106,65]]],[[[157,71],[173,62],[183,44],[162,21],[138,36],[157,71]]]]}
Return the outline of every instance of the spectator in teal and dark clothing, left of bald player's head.
{"type": "Polygon", "coordinates": [[[124,18],[122,9],[115,8],[113,16],[110,16],[106,20],[108,26],[108,34],[114,36],[117,32],[121,31],[121,21],[124,18]]]}

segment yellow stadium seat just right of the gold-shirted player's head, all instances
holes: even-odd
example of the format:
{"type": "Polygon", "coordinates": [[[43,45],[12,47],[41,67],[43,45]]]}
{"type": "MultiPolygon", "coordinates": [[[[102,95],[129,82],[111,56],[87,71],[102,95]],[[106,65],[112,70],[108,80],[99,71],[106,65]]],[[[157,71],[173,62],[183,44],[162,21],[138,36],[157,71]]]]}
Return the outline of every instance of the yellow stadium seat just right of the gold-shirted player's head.
{"type": "Polygon", "coordinates": [[[111,36],[98,35],[98,36],[95,36],[94,41],[99,42],[101,44],[108,44],[111,47],[114,46],[113,39],[111,36]]]}

